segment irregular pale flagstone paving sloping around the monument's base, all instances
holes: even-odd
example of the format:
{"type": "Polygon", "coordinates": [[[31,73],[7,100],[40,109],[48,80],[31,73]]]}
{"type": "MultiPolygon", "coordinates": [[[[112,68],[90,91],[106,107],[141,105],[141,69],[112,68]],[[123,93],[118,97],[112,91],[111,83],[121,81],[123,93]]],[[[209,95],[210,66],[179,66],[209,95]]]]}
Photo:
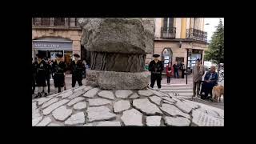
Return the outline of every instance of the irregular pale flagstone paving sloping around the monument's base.
{"type": "Polygon", "coordinates": [[[224,110],[161,91],[80,86],[32,100],[32,126],[224,126],[224,110]]]}

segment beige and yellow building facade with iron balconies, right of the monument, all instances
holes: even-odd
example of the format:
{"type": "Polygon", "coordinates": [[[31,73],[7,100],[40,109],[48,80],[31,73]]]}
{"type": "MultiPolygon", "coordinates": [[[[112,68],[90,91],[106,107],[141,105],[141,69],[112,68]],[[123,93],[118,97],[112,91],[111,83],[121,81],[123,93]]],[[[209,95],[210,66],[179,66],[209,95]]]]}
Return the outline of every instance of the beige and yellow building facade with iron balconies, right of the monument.
{"type": "MultiPolygon", "coordinates": [[[[196,59],[203,62],[207,48],[204,18],[155,18],[154,54],[160,54],[164,66],[184,62],[190,71],[196,59]]],[[[152,54],[147,54],[147,61],[152,54]]]]}

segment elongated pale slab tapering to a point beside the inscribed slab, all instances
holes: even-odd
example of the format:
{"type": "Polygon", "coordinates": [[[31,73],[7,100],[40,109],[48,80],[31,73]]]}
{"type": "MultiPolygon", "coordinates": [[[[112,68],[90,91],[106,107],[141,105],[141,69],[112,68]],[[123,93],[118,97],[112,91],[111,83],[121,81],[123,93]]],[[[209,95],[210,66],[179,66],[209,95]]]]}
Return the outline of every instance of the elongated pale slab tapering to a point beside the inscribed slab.
{"type": "Polygon", "coordinates": [[[160,109],[164,112],[166,112],[167,114],[170,114],[172,116],[183,116],[185,118],[190,118],[189,114],[185,114],[183,113],[181,110],[179,110],[176,106],[174,105],[169,105],[166,103],[162,104],[162,107],[160,107],[160,109]]]}

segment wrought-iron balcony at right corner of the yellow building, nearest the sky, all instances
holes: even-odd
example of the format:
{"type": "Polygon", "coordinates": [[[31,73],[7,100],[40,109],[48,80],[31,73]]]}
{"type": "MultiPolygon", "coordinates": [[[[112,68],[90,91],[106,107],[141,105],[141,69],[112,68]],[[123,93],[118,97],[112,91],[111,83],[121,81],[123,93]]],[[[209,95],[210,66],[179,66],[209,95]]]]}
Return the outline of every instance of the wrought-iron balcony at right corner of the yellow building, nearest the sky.
{"type": "Polygon", "coordinates": [[[187,29],[186,30],[186,38],[207,42],[207,32],[197,29],[187,29]]]}

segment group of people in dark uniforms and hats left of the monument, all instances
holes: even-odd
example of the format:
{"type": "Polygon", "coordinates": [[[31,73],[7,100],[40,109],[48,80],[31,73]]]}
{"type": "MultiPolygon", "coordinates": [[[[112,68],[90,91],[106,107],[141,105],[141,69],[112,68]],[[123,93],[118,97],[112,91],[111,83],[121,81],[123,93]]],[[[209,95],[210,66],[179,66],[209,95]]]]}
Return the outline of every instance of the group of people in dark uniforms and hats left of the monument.
{"type": "Polygon", "coordinates": [[[78,82],[82,86],[82,77],[85,75],[86,65],[81,60],[80,56],[74,54],[74,61],[70,62],[69,66],[63,62],[63,54],[56,54],[54,62],[48,61],[42,54],[37,54],[36,62],[32,58],[32,94],[34,94],[35,86],[38,86],[38,94],[35,98],[46,96],[46,82],[48,86],[48,94],[50,94],[50,75],[54,79],[55,93],[64,90],[65,86],[65,72],[69,68],[72,74],[72,87],[78,82]]]}

